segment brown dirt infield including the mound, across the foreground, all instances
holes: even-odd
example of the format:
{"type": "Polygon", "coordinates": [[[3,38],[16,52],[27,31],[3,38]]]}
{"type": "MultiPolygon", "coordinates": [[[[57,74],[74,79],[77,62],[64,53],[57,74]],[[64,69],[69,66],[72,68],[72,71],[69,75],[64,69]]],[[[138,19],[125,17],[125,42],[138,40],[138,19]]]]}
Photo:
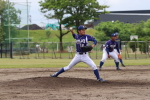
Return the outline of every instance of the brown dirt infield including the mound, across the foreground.
{"type": "Polygon", "coordinates": [[[150,100],[150,66],[72,68],[58,78],[59,68],[0,69],[0,100],[150,100]]]}

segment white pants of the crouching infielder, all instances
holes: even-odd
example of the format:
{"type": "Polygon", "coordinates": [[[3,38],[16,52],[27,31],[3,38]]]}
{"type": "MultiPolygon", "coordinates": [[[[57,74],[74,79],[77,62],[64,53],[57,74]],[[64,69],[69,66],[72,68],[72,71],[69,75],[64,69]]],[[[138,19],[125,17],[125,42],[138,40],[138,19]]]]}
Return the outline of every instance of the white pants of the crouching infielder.
{"type": "MultiPolygon", "coordinates": [[[[118,54],[115,51],[109,52],[109,55],[115,60],[115,62],[119,62],[118,54]]],[[[103,49],[102,62],[105,62],[108,58],[108,54],[105,49],[103,49]]]]}

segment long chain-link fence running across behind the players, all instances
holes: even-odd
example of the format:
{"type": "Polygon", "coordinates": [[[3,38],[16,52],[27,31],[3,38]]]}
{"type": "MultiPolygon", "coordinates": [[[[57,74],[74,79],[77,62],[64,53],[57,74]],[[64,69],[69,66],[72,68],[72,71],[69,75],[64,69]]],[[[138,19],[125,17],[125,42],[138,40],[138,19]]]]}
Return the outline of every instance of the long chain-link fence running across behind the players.
{"type": "MultiPolygon", "coordinates": [[[[89,45],[92,43],[89,43],[89,45]]],[[[101,59],[103,54],[102,46],[105,41],[98,42],[96,47],[89,52],[92,59],[101,59]]],[[[59,42],[23,42],[13,43],[13,58],[51,58],[51,59],[72,59],[76,53],[75,42],[63,43],[63,51],[59,50],[59,42]]],[[[144,41],[122,41],[123,59],[146,59],[149,58],[150,42],[144,41]]]]}

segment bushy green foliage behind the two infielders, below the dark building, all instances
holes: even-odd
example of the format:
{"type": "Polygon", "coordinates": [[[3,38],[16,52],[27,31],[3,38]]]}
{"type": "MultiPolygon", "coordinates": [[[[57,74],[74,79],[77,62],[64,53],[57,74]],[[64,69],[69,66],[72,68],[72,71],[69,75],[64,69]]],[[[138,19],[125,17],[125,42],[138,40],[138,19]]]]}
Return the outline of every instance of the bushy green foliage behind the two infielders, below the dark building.
{"type": "Polygon", "coordinates": [[[108,38],[110,38],[111,34],[118,32],[119,38],[122,41],[129,41],[130,35],[132,34],[132,27],[133,27],[132,24],[123,23],[120,21],[101,22],[97,26],[94,27],[95,30],[97,30],[94,36],[99,41],[106,41],[108,38]]]}

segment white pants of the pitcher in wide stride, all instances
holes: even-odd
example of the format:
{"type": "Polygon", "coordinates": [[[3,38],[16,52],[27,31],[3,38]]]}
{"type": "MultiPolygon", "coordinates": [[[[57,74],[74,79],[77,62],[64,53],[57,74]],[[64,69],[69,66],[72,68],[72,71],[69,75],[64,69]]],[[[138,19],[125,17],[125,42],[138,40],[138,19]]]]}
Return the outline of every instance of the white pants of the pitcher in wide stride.
{"type": "Polygon", "coordinates": [[[69,70],[73,66],[75,66],[79,62],[84,62],[87,65],[91,66],[93,70],[97,69],[97,66],[93,62],[93,60],[89,57],[88,53],[84,54],[79,54],[78,52],[75,54],[75,57],[72,59],[72,61],[69,63],[68,66],[64,67],[64,70],[69,70]]]}

